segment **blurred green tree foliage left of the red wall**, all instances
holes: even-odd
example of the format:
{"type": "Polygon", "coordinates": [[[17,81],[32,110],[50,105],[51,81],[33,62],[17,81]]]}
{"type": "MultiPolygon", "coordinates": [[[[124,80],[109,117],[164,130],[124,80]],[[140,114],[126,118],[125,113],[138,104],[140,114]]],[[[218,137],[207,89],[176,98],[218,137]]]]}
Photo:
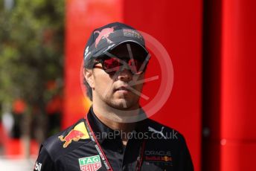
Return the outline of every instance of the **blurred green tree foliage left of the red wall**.
{"type": "Polygon", "coordinates": [[[46,90],[46,83],[63,77],[64,0],[16,0],[11,10],[3,3],[0,103],[22,98],[42,106],[56,93],[46,90]]]}

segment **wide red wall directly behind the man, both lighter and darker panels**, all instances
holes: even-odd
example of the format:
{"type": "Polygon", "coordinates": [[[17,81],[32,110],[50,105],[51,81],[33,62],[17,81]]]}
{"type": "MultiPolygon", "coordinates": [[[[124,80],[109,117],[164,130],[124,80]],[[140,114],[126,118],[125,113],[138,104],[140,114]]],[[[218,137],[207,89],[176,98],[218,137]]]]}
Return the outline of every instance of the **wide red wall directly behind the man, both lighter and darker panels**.
{"type": "MultiPolygon", "coordinates": [[[[149,33],[169,52],[174,71],[173,91],[167,103],[152,118],[185,135],[195,170],[200,170],[201,0],[67,0],[63,127],[83,117],[89,106],[80,88],[80,66],[86,40],[94,28],[115,21],[149,33]]],[[[153,71],[152,67],[148,72],[153,71]]],[[[164,79],[164,73],[161,78],[164,79]]],[[[150,85],[147,84],[147,88],[154,90],[150,85]]]]}

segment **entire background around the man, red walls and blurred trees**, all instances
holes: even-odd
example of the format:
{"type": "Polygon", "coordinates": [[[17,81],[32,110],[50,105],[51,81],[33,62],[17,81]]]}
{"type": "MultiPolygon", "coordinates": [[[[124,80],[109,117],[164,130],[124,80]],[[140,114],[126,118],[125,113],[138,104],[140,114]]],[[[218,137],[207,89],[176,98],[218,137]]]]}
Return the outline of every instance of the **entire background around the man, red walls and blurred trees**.
{"type": "MultiPolygon", "coordinates": [[[[0,170],[33,170],[39,144],[86,114],[83,49],[109,22],[149,33],[170,54],[173,90],[151,118],[185,135],[195,170],[256,170],[255,7],[253,0],[0,0],[0,170]]],[[[148,83],[144,91],[157,90],[148,83]]]]}

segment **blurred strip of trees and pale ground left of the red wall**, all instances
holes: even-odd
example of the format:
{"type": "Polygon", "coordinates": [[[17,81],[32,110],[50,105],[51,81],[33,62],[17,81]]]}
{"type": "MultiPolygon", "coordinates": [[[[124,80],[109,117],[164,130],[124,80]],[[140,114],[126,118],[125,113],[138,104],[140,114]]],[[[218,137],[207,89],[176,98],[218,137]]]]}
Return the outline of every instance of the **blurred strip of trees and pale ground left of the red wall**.
{"type": "Polygon", "coordinates": [[[32,170],[21,159],[60,131],[64,21],[62,0],[0,1],[0,170],[32,170]]]}

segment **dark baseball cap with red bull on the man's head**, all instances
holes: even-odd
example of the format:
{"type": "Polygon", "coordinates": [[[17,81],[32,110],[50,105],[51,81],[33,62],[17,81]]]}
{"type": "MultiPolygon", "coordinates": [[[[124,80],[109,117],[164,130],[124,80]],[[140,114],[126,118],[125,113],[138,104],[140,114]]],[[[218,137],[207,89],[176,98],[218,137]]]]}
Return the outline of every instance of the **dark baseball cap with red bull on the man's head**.
{"type": "Polygon", "coordinates": [[[145,47],[144,37],[135,28],[120,22],[104,25],[92,31],[84,50],[83,59],[85,62],[92,58],[96,59],[106,52],[112,51],[118,45],[129,42],[138,45],[146,55],[149,54],[145,47]]]}

